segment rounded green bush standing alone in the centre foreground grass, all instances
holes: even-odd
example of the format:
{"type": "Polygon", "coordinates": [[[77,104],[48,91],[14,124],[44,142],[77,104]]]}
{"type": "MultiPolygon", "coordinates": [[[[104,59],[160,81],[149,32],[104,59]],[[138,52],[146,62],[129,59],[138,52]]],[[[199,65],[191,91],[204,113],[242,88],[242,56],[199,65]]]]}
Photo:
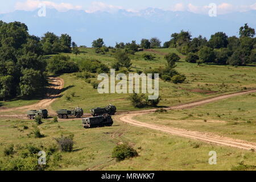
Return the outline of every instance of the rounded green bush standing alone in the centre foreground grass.
{"type": "Polygon", "coordinates": [[[133,158],[138,156],[138,152],[129,144],[120,144],[115,146],[112,152],[112,157],[117,161],[133,158]]]}

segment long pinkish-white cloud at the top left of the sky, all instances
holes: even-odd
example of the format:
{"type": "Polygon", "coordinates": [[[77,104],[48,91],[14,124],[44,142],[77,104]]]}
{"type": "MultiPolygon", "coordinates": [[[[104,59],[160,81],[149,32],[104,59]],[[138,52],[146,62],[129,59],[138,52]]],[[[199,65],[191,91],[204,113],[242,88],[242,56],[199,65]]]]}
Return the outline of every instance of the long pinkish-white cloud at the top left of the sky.
{"type": "Polygon", "coordinates": [[[45,4],[46,7],[53,8],[58,11],[82,9],[81,6],[74,6],[70,3],[55,3],[51,1],[27,0],[26,2],[17,2],[15,5],[15,10],[32,11],[38,9],[40,4],[45,4]]]}

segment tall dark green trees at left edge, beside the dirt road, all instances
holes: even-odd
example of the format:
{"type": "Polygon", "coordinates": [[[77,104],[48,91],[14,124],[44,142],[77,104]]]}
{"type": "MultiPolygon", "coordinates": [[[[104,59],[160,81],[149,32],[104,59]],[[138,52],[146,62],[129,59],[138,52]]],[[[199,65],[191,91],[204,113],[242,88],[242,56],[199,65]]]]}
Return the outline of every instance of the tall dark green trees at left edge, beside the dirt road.
{"type": "MultiPolygon", "coordinates": [[[[75,45],[75,43],[73,43],[75,45]]],[[[0,99],[35,96],[47,84],[46,56],[71,52],[71,36],[28,34],[26,24],[0,21],[0,99]]]]}

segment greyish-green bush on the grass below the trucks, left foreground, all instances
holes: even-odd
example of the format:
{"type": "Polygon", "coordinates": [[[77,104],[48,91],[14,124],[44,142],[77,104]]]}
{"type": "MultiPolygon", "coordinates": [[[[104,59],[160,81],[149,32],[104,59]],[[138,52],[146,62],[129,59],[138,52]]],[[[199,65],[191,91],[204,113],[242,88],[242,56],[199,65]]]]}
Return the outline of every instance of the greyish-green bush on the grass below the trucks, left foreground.
{"type": "Polygon", "coordinates": [[[55,138],[59,148],[63,152],[71,152],[73,150],[73,145],[75,142],[73,141],[74,135],[69,135],[68,137],[64,137],[61,135],[60,138],[55,138]]]}

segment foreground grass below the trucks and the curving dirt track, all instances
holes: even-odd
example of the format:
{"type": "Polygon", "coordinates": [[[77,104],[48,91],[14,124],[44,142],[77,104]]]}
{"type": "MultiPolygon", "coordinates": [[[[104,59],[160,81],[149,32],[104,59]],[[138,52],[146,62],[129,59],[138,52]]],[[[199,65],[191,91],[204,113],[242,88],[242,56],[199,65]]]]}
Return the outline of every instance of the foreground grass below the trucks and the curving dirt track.
{"type": "MultiPolygon", "coordinates": [[[[143,129],[115,122],[112,127],[83,129],[80,120],[52,123],[44,121],[39,127],[44,138],[27,137],[33,127],[33,121],[0,121],[0,160],[14,157],[3,155],[10,144],[22,148],[26,144],[41,150],[54,145],[54,138],[61,134],[75,134],[73,152],[57,152],[60,159],[49,163],[50,170],[237,170],[256,169],[255,152],[236,148],[214,146],[180,137],[174,137],[158,131],[143,129]],[[24,129],[27,126],[28,129],[24,129]],[[112,159],[113,147],[120,142],[128,142],[135,148],[137,158],[116,162],[112,159]],[[209,151],[217,152],[217,165],[209,165],[209,151]]],[[[16,150],[16,149],[15,149],[16,150]]],[[[0,162],[1,164],[1,162],[0,162]]]]}

